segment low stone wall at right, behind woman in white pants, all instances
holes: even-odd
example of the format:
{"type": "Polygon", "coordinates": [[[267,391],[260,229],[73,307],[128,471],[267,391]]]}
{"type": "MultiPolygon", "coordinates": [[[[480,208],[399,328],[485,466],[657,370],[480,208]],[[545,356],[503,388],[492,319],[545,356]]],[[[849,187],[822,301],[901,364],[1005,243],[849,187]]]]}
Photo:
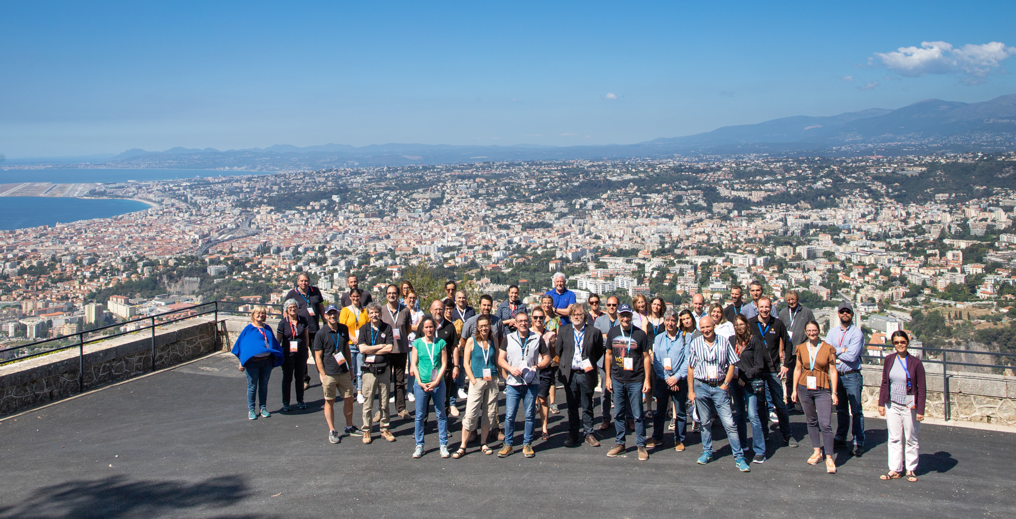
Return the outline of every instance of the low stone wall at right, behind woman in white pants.
{"type": "MultiPolygon", "coordinates": [[[[925,364],[928,397],[926,415],[945,417],[945,383],[940,365],[925,364]]],[[[1016,427],[1016,377],[947,372],[949,419],[1016,427]]],[[[865,367],[865,410],[878,411],[882,367],[865,367]]]]}

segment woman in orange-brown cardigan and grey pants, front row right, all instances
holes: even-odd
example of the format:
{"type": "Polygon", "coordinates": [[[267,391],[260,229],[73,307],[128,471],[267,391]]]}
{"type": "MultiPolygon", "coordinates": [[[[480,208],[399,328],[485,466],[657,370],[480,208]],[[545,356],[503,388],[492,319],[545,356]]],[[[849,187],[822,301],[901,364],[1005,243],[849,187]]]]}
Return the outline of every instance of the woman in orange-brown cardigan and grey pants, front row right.
{"type": "Polygon", "coordinates": [[[808,436],[812,439],[815,452],[808,463],[814,465],[822,460],[825,448],[826,472],[836,473],[833,460],[832,409],[836,405],[836,349],[819,338],[819,323],[810,321],[805,325],[808,340],[798,345],[798,363],[793,368],[795,402],[801,398],[801,407],[808,419],[808,436]]]}

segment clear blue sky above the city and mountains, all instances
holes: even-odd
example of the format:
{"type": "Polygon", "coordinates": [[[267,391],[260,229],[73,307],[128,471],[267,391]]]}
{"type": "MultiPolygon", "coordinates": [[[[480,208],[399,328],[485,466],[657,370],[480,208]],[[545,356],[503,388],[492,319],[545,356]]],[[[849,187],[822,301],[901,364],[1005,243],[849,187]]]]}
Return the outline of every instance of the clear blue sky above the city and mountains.
{"type": "Polygon", "coordinates": [[[1016,93],[1016,2],[761,4],[7,2],[0,153],[631,143],[1016,93]]]}

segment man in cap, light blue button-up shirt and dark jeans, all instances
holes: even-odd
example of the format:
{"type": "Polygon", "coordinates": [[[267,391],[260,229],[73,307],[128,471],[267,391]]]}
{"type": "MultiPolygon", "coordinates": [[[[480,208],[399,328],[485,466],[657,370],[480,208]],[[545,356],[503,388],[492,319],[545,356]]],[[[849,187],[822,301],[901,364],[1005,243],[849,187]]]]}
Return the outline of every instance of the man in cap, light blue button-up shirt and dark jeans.
{"type": "Polygon", "coordinates": [[[865,453],[865,411],[861,392],[865,385],[861,374],[861,354],[865,349],[865,334],[853,324],[853,307],[848,301],[836,309],[839,326],[833,326],[826,335],[826,342],[836,348],[836,435],[833,441],[846,444],[846,432],[853,426],[853,448],[850,454],[860,457],[865,453]]]}

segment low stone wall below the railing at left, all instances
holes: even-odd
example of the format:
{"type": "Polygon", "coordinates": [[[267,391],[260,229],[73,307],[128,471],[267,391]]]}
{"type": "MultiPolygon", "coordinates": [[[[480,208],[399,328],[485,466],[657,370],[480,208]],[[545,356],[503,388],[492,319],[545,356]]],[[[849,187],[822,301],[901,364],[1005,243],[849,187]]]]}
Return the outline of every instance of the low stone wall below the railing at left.
{"type": "MultiPolygon", "coordinates": [[[[114,337],[84,346],[83,390],[127,380],[221,349],[215,344],[215,324],[194,318],[155,329],[152,366],[150,330],[114,337]]],[[[0,416],[78,394],[77,348],[0,367],[0,416]]]]}

